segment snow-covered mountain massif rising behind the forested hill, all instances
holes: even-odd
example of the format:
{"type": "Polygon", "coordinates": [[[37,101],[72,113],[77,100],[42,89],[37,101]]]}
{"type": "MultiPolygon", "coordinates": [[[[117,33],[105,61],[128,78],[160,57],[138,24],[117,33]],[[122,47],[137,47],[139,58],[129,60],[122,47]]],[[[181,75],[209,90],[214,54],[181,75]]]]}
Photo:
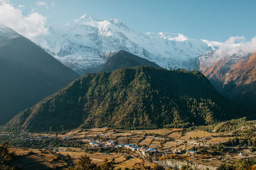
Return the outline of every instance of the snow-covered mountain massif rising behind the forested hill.
{"type": "Polygon", "coordinates": [[[198,57],[216,45],[182,34],[141,33],[119,20],[97,20],[88,15],[65,25],[52,23],[49,34],[36,36],[32,41],[80,74],[104,64],[119,50],[131,52],[161,67],[198,69],[198,57]]]}

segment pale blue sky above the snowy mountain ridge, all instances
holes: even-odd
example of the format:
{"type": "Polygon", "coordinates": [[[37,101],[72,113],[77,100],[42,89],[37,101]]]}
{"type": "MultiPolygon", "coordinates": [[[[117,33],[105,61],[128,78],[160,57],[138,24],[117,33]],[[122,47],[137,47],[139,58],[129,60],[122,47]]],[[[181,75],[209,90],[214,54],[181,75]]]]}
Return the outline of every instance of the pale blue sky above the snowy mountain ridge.
{"type": "Polygon", "coordinates": [[[230,36],[256,36],[256,1],[236,0],[11,0],[24,5],[24,15],[37,11],[47,22],[74,20],[83,14],[117,18],[140,32],[174,32],[196,39],[225,41],[230,36]]]}

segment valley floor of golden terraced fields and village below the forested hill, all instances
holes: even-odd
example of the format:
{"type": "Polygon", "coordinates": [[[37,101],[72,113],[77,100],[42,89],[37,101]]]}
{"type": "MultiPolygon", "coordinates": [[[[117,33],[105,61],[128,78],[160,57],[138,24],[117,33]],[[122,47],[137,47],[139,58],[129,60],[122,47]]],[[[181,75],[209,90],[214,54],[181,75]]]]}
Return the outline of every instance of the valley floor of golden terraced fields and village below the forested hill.
{"type": "MultiPolygon", "coordinates": [[[[101,164],[104,159],[115,159],[117,167],[132,169],[133,163],[143,158],[148,164],[159,164],[173,168],[191,164],[203,169],[216,169],[224,162],[232,163],[239,159],[255,157],[252,146],[229,146],[234,135],[225,132],[207,132],[186,129],[152,129],[125,131],[108,127],[95,129],[74,129],[62,133],[29,133],[22,131],[19,135],[1,133],[15,143],[13,151],[19,155],[27,150],[42,159],[42,153],[51,155],[68,155],[72,164],[76,164],[84,154],[93,162],[101,164]]],[[[0,138],[1,138],[0,137],[0,138]]],[[[29,155],[31,157],[31,155],[29,155]]],[[[33,155],[35,157],[35,155],[33,155]]],[[[60,165],[62,160],[51,161],[51,166],[60,165]]],[[[48,160],[45,160],[49,164],[48,160]]],[[[28,164],[31,164],[29,162],[28,164]]],[[[67,162],[61,165],[67,166],[67,162]]],[[[200,169],[200,168],[199,168],[200,169]]]]}

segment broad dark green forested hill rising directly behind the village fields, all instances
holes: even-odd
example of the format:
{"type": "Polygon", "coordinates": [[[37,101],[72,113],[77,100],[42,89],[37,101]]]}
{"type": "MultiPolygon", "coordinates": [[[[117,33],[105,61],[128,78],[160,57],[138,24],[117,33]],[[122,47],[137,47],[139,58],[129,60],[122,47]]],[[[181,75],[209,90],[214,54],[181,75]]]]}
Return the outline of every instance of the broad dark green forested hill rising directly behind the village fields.
{"type": "Polygon", "coordinates": [[[239,111],[198,71],[137,66],[86,74],[22,111],[7,127],[153,129],[211,124],[239,111]]]}

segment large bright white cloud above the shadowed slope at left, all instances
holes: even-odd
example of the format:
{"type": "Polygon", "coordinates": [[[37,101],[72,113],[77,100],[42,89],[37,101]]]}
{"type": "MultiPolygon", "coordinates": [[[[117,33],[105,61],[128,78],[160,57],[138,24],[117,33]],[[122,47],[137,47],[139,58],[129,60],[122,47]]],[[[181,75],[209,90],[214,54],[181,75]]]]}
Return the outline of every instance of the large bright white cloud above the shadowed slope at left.
{"type": "Polygon", "coordinates": [[[38,34],[47,34],[46,17],[32,11],[23,15],[20,8],[15,8],[10,1],[0,0],[0,24],[12,28],[23,36],[33,38],[38,34]]]}

